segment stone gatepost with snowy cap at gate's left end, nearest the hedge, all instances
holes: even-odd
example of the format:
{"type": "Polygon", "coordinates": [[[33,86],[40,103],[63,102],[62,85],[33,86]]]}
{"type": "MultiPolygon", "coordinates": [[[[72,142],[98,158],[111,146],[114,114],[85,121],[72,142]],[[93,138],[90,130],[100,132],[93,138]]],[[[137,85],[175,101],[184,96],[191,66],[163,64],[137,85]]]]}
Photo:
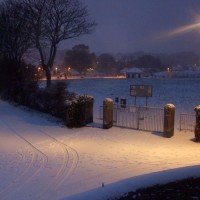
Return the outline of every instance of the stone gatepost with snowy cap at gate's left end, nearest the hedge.
{"type": "Polygon", "coordinates": [[[103,101],[103,128],[109,129],[113,126],[113,101],[106,98],[103,101]]]}

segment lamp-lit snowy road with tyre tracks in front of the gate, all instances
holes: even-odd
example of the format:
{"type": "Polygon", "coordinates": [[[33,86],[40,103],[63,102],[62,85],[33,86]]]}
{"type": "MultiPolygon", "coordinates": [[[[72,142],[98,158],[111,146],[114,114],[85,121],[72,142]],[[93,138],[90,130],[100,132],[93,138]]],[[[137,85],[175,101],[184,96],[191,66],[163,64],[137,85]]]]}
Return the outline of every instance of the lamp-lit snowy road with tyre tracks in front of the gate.
{"type": "Polygon", "coordinates": [[[129,177],[200,164],[192,132],[68,129],[0,101],[2,200],[62,199],[129,177]]]}

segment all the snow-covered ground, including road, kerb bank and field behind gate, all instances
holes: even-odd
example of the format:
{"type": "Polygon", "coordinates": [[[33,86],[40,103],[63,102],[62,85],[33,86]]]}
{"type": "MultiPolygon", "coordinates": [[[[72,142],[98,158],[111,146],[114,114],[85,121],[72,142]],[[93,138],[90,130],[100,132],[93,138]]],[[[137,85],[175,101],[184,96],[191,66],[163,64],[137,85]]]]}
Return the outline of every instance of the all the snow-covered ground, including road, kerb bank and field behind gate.
{"type": "Polygon", "coordinates": [[[174,103],[177,118],[180,112],[194,112],[199,79],[70,82],[70,91],[95,98],[90,126],[68,129],[44,114],[0,101],[0,199],[106,200],[141,186],[200,175],[200,144],[193,142],[193,132],[176,128],[167,139],[117,127],[103,130],[97,119],[106,97],[133,102],[130,84],[152,85],[148,105],[174,103]]]}

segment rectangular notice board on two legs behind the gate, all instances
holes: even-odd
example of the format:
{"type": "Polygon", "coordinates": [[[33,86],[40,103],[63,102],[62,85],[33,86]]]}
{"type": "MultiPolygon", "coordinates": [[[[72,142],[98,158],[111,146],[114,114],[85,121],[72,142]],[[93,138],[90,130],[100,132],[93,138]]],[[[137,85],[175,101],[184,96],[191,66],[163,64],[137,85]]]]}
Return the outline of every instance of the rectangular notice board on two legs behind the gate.
{"type": "Polygon", "coordinates": [[[135,97],[135,105],[137,97],[146,97],[146,107],[147,107],[147,97],[152,97],[152,86],[130,85],[130,96],[135,97]]]}

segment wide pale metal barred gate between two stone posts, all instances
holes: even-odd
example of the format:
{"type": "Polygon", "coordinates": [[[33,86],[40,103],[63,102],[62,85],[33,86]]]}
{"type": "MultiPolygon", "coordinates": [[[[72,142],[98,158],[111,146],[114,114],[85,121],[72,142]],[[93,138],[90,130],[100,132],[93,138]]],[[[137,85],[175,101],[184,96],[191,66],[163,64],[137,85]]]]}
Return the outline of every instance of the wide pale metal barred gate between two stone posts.
{"type": "MultiPolygon", "coordinates": [[[[100,115],[103,113],[102,110],[103,107],[101,107],[100,115]]],[[[114,105],[113,123],[114,126],[118,127],[163,132],[164,109],[137,106],[120,107],[119,105],[114,105]]]]}

